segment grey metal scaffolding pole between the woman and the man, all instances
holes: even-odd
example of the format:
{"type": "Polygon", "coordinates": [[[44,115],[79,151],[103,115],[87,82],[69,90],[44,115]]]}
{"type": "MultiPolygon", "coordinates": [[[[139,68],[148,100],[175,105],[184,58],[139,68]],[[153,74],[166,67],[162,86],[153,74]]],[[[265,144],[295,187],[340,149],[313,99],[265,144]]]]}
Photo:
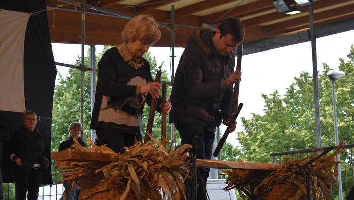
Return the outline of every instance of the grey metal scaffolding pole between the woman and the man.
{"type": "MultiPolygon", "coordinates": [[[[174,81],[174,46],[175,46],[175,21],[174,21],[174,4],[171,5],[171,86],[173,86],[173,81],[174,81]]],[[[174,124],[171,124],[171,144],[173,145],[174,148],[174,142],[175,142],[175,137],[174,137],[174,124]]]]}

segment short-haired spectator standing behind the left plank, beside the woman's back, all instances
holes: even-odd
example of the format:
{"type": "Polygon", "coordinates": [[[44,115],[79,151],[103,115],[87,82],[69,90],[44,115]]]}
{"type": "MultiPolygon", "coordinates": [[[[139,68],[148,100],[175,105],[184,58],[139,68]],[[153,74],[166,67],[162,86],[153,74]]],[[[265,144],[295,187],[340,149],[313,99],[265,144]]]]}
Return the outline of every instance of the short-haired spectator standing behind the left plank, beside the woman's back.
{"type": "MultiPolygon", "coordinates": [[[[81,146],[86,147],[86,143],[82,141],[80,134],[82,131],[82,124],[79,122],[71,122],[69,125],[69,139],[62,141],[59,145],[59,152],[63,151],[67,148],[70,148],[72,145],[74,145],[74,141],[73,138],[76,138],[77,141],[80,143],[81,146]]],[[[80,190],[78,190],[76,188],[76,185],[74,185],[72,187],[72,189],[70,187],[66,187],[68,183],[64,182],[63,185],[65,187],[65,192],[66,192],[66,200],[67,199],[71,199],[71,200],[77,200],[79,199],[79,192],[80,190]],[[69,197],[68,197],[69,196],[69,197]]]]}

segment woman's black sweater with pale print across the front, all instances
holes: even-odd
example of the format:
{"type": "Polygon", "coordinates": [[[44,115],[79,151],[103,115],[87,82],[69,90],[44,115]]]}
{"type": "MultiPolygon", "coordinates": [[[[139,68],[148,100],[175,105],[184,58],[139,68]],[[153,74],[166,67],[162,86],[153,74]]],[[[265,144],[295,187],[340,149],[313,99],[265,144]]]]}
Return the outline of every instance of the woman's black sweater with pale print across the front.
{"type": "MultiPolygon", "coordinates": [[[[118,49],[105,52],[98,62],[98,79],[95,104],[91,117],[91,129],[111,130],[129,134],[141,134],[141,118],[144,104],[150,105],[151,96],[135,96],[137,85],[153,82],[150,65],[144,58],[143,66],[135,69],[124,62],[118,49]]],[[[157,102],[156,110],[161,112],[157,102]]]]}

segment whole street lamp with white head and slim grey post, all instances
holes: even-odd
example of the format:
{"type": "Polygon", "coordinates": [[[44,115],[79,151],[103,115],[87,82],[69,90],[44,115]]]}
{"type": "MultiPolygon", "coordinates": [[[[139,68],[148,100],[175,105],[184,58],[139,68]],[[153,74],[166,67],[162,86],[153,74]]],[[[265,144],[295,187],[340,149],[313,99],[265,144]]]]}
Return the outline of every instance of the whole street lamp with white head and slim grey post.
{"type": "MultiPolygon", "coordinates": [[[[338,135],[338,128],[337,128],[337,109],[336,109],[336,97],[335,97],[335,90],[334,90],[334,81],[341,79],[345,76],[345,73],[342,71],[335,71],[331,70],[327,73],[327,77],[332,82],[332,99],[333,99],[333,119],[334,119],[334,139],[335,145],[339,145],[339,135],[338,135]]],[[[340,161],[339,154],[337,155],[337,160],[340,161]]],[[[340,169],[340,162],[338,163],[338,189],[339,189],[339,200],[343,199],[343,190],[342,190],[342,172],[340,169]]]]}

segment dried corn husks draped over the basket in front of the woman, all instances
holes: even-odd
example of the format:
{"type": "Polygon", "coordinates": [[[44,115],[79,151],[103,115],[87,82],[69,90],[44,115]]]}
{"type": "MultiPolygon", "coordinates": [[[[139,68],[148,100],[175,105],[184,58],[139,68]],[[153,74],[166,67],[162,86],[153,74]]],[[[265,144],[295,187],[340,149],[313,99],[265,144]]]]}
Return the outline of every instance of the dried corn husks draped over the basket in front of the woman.
{"type": "MultiPolygon", "coordinates": [[[[147,133],[148,134],[148,133],[147,133]]],[[[56,167],[62,168],[63,179],[67,185],[79,185],[81,190],[90,190],[97,184],[103,184],[100,190],[91,190],[85,199],[91,199],[99,192],[116,190],[120,199],[180,199],[186,198],[184,178],[188,177],[189,163],[186,161],[190,145],[185,144],[173,151],[173,146],[165,148],[168,139],[159,142],[149,135],[153,143],[135,142],[125,152],[117,154],[108,147],[96,146],[83,148],[77,141],[68,151],[104,152],[111,155],[111,161],[98,162],[62,162],[56,167]]],[[[68,186],[67,186],[68,187],[68,186]]],[[[81,193],[80,193],[81,195],[81,193]]],[[[80,196],[81,199],[81,196],[80,196]]]]}

